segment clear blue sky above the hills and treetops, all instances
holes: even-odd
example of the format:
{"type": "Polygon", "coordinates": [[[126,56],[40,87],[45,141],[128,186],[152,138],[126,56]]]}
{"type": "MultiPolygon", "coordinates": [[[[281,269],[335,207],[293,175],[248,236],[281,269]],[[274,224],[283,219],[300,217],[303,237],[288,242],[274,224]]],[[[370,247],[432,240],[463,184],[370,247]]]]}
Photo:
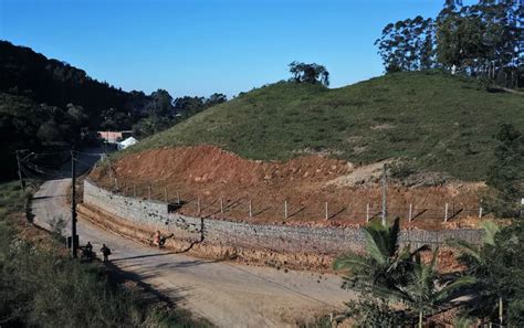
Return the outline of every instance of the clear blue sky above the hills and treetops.
{"type": "Polygon", "coordinates": [[[0,0],[0,39],[123,89],[228,96],[323,64],[332,87],[381,75],[388,22],[443,0],[0,0]]]}

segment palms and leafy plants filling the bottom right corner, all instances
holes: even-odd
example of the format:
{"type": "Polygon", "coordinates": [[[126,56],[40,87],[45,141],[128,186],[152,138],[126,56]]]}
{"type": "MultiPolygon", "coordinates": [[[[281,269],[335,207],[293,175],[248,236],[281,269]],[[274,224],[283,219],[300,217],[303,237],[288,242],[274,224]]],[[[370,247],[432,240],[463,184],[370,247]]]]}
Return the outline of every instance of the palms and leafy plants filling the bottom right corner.
{"type": "Polygon", "coordinates": [[[343,287],[359,295],[344,314],[358,326],[422,327],[442,324],[437,315],[443,313],[451,314],[447,324],[524,325],[522,221],[502,229],[484,221],[480,245],[450,241],[464,269],[446,274],[437,269],[438,248],[399,244],[398,221],[371,223],[364,231],[366,253],[349,253],[334,263],[346,272],[343,287]],[[431,256],[422,261],[425,252],[431,256]]]}

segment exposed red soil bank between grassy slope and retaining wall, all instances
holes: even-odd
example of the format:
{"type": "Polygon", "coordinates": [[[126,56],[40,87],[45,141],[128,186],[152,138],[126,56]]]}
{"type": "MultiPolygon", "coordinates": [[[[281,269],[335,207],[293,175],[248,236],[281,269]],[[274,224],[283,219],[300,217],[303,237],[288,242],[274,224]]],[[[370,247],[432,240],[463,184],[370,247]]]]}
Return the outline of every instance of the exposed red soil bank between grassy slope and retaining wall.
{"type": "MultiPolygon", "coordinates": [[[[354,181],[358,171],[343,160],[306,156],[285,162],[247,160],[213,146],[178,147],[130,154],[108,166],[95,169],[91,179],[106,188],[137,197],[177,203],[189,215],[255,223],[319,226],[356,226],[380,213],[380,184],[373,179],[354,181]],[[352,176],[353,174],[353,176],[352,176]],[[350,177],[350,179],[347,179],[350,177]],[[338,178],[338,179],[337,179],[338,178]],[[369,182],[370,181],[370,182],[369,182]],[[117,187],[116,187],[117,186],[117,187]],[[220,212],[222,199],[224,212],[220,212]],[[252,204],[252,218],[249,203],[252,204]],[[287,219],[284,219],[287,201],[287,219]],[[327,202],[328,220],[325,219],[327,202]]],[[[369,171],[369,170],[368,170],[369,171]]],[[[356,176],[357,180],[360,178],[356,176]]],[[[480,184],[450,183],[437,187],[388,186],[388,216],[400,216],[408,229],[450,229],[478,223],[480,184]],[[409,204],[413,220],[408,222],[409,204]],[[443,224],[444,204],[449,222],[443,224]]]]}

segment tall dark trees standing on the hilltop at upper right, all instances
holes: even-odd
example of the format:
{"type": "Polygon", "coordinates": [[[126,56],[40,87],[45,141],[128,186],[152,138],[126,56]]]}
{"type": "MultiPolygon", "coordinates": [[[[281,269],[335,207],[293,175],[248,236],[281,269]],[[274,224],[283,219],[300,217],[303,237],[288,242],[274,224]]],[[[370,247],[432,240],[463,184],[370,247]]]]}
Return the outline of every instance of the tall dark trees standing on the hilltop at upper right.
{"type": "Polygon", "coordinates": [[[386,72],[442,67],[518,87],[524,85],[523,14],[517,0],[471,6],[447,0],[437,18],[389,23],[375,43],[386,72]]]}

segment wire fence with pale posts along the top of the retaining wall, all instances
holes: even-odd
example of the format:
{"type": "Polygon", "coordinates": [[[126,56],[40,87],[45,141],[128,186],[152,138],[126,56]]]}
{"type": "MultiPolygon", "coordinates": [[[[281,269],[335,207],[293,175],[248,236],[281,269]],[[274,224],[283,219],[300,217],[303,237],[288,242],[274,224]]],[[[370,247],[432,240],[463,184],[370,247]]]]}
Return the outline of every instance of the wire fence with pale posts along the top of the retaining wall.
{"type": "MultiPolygon", "coordinates": [[[[226,192],[217,192],[214,195],[198,195],[195,193],[182,193],[180,189],[158,186],[148,182],[127,182],[113,176],[111,182],[103,186],[115,193],[126,197],[142,199],[155,199],[169,203],[171,209],[195,215],[219,215],[231,214],[238,219],[273,218],[275,220],[305,219],[305,220],[354,220],[370,221],[381,215],[382,209],[379,201],[357,203],[347,202],[291,202],[283,197],[281,201],[261,201],[260,197],[250,198],[249,194],[228,197],[226,192]]],[[[412,222],[450,222],[463,218],[481,218],[485,215],[481,204],[475,208],[465,207],[457,199],[442,202],[440,207],[428,204],[426,201],[398,202],[387,207],[388,218],[400,218],[412,222]]]]}

